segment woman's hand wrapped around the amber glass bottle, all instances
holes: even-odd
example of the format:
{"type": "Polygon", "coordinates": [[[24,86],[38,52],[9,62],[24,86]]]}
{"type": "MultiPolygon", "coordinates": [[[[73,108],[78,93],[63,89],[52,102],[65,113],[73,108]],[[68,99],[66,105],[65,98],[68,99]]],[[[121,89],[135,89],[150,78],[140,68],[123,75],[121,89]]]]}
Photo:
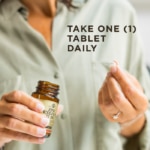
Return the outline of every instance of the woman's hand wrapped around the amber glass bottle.
{"type": "Polygon", "coordinates": [[[22,91],[13,91],[0,100],[0,147],[12,140],[36,144],[45,142],[49,120],[43,104],[22,91]]]}

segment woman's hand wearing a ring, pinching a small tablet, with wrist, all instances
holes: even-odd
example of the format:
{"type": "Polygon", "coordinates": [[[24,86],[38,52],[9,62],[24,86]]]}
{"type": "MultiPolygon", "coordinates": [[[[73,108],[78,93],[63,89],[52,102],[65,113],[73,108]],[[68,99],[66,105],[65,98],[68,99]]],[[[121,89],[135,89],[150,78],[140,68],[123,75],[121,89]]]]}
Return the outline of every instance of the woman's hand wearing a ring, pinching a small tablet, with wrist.
{"type": "Polygon", "coordinates": [[[99,107],[104,116],[121,125],[121,134],[139,133],[145,124],[148,100],[138,81],[114,63],[99,91],[99,107]]]}

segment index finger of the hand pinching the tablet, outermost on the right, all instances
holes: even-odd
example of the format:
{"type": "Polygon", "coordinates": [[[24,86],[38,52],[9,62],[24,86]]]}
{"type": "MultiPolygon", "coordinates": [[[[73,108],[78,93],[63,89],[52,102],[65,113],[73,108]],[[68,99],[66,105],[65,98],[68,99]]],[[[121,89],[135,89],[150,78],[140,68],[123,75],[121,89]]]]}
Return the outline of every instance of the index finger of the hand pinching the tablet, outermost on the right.
{"type": "Polygon", "coordinates": [[[131,80],[129,75],[127,75],[123,70],[121,70],[118,65],[112,65],[110,72],[113,77],[119,83],[123,93],[127,99],[132,103],[132,105],[140,111],[145,111],[147,108],[147,98],[144,93],[137,87],[135,80],[131,80]],[[142,105],[141,105],[142,104],[142,105]],[[142,106],[142,107],[141,107],[142,106]]]}

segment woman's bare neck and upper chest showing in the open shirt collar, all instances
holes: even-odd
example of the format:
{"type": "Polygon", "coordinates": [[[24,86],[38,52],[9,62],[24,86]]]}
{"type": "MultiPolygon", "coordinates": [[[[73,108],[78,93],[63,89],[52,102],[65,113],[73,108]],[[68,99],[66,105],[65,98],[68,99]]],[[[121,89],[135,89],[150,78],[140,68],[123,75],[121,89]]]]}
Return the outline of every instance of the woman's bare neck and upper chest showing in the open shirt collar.
{"type": "Polygon", "coordinates": [[[56,13],[56,0],[21,0],[29,10],[28,22],[52,46],[52,23],[56,13]],[[40,22],[40,23],[39,23],[40,22]]]}

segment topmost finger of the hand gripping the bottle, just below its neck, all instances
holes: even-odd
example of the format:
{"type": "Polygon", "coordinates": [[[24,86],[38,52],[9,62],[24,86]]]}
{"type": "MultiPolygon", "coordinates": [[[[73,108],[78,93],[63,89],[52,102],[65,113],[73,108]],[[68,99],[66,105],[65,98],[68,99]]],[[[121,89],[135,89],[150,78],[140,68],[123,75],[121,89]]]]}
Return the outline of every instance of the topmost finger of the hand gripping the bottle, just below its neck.
{"type": "Polygon", "coordinates": [[[39,100],[27,95],[22,91],[13,91],[11,93],[5,94],[2,97],[2,100],[6,100],[11,103],[23,104],[37,112],[42,112],[44,110],[44,105],[39,100]]]}

